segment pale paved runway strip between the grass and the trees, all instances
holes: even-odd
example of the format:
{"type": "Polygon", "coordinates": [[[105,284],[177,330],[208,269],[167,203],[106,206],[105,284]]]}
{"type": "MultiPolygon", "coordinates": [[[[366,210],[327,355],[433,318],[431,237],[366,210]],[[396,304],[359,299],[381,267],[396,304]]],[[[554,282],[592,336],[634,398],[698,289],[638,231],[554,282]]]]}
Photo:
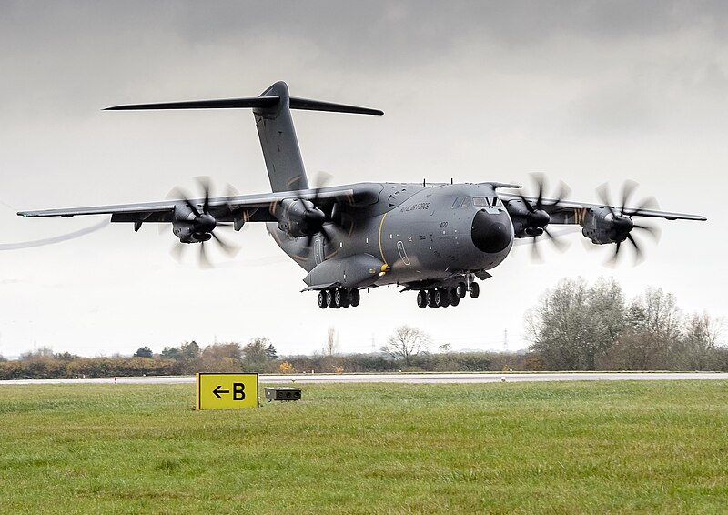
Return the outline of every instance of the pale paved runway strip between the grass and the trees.
{"type": "MultiPolygon", "coordinates": [[[[289,374],[260,376],[261,384],[270,383],[493,383],[528,381],[618,381],[618,380],[678,380],[678,379],[728,379],[725,372],[549,372],[488,373],[488,374],[289,374]]],[[[144,377],[144,378],[89,378],[89,379],[18,379],[0,381],[2,385],[37,384],[177,384],[194,383],[194,377],[144,377]]]]}

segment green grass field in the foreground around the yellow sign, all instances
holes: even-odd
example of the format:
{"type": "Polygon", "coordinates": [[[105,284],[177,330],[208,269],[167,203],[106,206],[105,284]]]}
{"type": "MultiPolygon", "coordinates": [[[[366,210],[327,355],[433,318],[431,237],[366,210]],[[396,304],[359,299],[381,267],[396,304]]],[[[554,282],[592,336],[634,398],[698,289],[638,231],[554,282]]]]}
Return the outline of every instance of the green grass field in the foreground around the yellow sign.
{"type": "Polygon", "coordinates": [[[0,513],[725,513],[728,382],[0,387],[0,513]]]}

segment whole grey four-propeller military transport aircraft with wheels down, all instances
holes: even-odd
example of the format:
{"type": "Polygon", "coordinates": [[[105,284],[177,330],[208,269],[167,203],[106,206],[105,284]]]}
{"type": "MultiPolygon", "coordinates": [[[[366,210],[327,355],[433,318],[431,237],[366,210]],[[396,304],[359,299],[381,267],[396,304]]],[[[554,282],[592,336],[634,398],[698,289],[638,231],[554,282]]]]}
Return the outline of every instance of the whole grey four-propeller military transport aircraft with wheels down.
{"type": "MultiPolygon", "coordinates": [[[[550,224],[581,226],[592,243],[614,244],[616,258],[634,229],[652,235],[656,229],[633,218],[705,220],[698,215],[653,209],[652,201],[627,206],[634,185],[623,188],[620,206],[613,206],[606,187],[602,204],[571,202],[562,192],[555,199],[507,194],[503,188],[520,185],[500,182],[477,184],[357,183],[339,187],[309,187],[291,109],[333,111],[362,115],[384,113],[288,95],[278,82],[258,97],[200,100],[164,104],[109,107],[111,110],[252,108],[263,149],[272,193],[205,196],[143,204],[21,211],[23,217],[74,217],[110,214],[112,222],[172,224],[179,241],[199,244],[216,240],[216,228],[240,230],[249,222],[266,222],[268,233],[283,251],[304,268],[307,288],[318,291],[320,308],[359,305],[359,291],[397,284],[417,292],[420,308],[457,306],[470,294],[477,298],[476,278],[490,278],[488,270],[508,257],[514,238],[544,235],[558,244],[550,224]]],[[[533,240],[535,244],[535,239],[533,240]]]]}

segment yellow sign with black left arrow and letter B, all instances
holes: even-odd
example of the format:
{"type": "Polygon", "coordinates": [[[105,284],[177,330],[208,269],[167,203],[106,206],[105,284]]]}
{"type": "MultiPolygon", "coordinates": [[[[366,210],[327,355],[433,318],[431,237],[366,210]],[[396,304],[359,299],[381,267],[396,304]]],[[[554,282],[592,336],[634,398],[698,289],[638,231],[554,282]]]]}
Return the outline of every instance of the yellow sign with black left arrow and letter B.
{"type": "Polygon", "coordinates": [[[258,374],[197,374],[195,409],[258,408],[258,374]]]}

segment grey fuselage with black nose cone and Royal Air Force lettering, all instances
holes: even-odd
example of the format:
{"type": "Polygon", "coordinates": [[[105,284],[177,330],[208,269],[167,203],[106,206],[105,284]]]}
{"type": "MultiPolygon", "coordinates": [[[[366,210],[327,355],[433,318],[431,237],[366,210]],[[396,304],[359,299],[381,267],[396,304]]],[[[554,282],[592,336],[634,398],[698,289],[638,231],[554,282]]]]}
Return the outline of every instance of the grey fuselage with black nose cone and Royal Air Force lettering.
{"type": "Polygon", "coordinates": [[[329,241],[318,234],[308,246],[306,237],[290,237],[276,223],[267,224],[268,233],[307,271],[325,259],[380,259],[387,271],[371,286],[448,286],[464,273],[497,267],[511,251],[511,217],[489,184],[366,187],[379,191],[376,200],[348,207],[353,228],[328,225],[329,241]]]}

